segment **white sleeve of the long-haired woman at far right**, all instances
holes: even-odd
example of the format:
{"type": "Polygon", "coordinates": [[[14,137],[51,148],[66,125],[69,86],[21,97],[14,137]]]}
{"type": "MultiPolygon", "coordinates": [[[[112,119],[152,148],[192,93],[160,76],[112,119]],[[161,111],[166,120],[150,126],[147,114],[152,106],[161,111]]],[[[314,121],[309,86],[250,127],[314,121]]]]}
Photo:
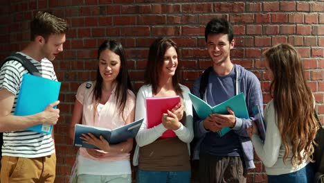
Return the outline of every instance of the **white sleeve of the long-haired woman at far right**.
{"type": "Polygon", "coordinates": [[[264,166],[271,167],[278,161],[280,146],[282,143],[279,129],[276,125],[276,114],[273,103],[268,103],[264,110],[264,121],[267,123],[267,132],[264,143],[260,137],[253,134],[251,140],[258,155],[264,166]]]}

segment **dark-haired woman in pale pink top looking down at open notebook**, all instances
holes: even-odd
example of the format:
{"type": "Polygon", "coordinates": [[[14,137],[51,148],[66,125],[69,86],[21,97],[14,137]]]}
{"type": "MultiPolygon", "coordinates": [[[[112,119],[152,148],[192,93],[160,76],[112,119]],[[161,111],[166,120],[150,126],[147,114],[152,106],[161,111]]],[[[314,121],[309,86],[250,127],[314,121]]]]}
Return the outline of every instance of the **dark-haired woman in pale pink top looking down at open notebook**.
{"type": "MultiPolygon", "coordinates": [[[[78,88],[69,135],[74,137],[77,123],[111,130],[134,121],[135,95],[127,72],[123,46],[114,40],[98,49],[97,78],[78,88]]],[[[129,152],[133,139],[115,145],[102,136],[82,134],[84,143],[100,150],[80,148],[77,182],[132,182],[129,152]]]]}

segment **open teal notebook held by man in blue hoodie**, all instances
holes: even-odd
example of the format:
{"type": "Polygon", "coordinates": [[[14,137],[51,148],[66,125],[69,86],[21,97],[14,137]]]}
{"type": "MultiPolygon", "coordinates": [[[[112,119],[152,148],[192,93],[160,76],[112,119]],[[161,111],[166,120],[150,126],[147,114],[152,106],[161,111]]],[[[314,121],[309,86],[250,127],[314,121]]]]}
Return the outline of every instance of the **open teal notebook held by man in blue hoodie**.
{"type": "MultiPolygon", "coordinates": [[[[214,107],[211,107],[208,103],[193,94],[189,93],[189,97],[200,119],[206,119],[207,116],[214,113],[228,114],[227,107],[230,107],[231,110],[233,110],[237,118],[249,119],[249,112],[247,110],[244,94],[242,92],[236,96],[233,96],[232,98],[229,98],[223,103],[219,103],[219,105],[215,105],[214,107]]],[[[231,128],[226,127],[219,130],[218,133],[222,137],[230,130],[231,128]]]]}

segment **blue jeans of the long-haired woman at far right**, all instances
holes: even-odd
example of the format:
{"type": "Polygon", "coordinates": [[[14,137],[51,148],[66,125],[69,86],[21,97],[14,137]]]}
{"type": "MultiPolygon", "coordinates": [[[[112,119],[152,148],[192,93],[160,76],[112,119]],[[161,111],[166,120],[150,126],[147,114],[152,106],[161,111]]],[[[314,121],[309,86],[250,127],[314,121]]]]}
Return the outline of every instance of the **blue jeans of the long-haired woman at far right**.
{"type": "Polygon", "coordinates": [[[285,182],[285,183],[312,183],[314,182],[314,165],[307,164],[304,168],[293,173],[282,175],[268,175],[268,183],[285,182]]]}

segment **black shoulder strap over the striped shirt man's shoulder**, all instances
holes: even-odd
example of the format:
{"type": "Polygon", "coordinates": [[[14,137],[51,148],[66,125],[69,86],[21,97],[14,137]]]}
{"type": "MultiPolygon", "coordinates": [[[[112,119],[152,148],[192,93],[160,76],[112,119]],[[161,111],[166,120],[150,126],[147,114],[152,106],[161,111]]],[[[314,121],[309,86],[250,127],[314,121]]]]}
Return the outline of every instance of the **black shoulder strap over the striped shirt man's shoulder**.
{"type": "Polygon", "coordinates": [[[0,68],[4,63],[6,63],[9,60],[17,60],[20,62],[27,70],[29,73],[42,77],[42,75],[39,73],[38,69],[34,66],[32,62],[30,62],[30,59],[26,58],[24,55],[21,55],[19,53],[12,53],[12,55],[8,56],[5,58],[5,60],[1,63],[0,68]]]}

